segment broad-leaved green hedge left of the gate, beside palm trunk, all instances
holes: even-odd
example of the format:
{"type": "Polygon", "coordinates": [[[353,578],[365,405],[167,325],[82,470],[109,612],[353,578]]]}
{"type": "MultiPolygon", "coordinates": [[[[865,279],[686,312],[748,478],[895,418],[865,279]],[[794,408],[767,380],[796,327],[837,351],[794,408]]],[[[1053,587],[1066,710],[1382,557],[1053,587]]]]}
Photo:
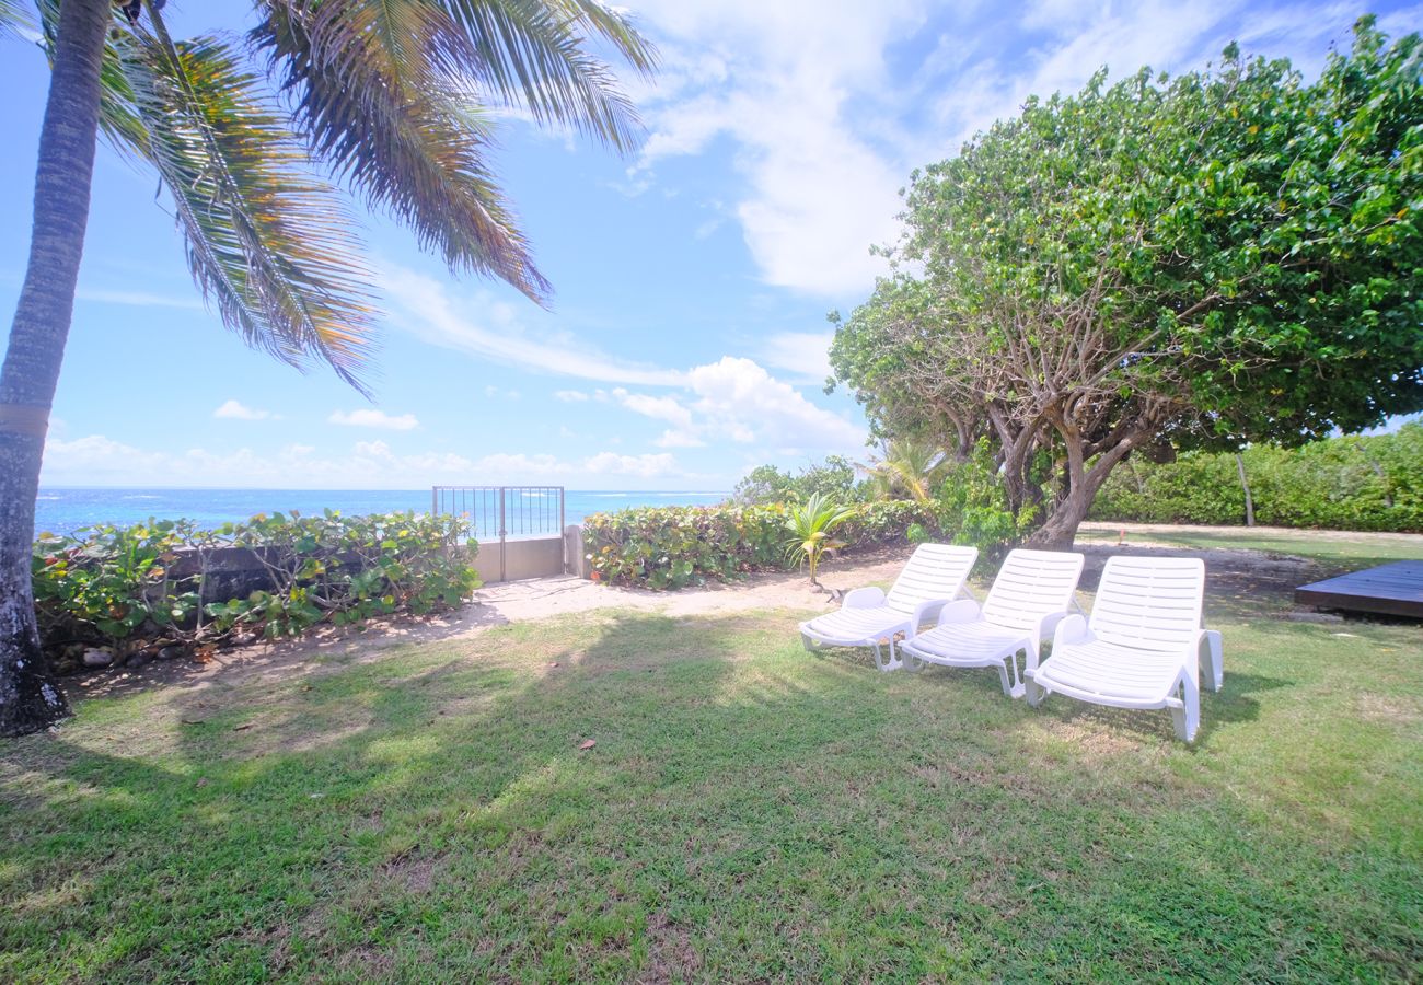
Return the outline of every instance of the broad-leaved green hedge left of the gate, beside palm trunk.
{"type": "Polygon", "coordinates": [[[212,531],[186,520],[91,527],[36,541],[36,615],[51,650],[221,642],[235,629],[273,639],[326,622],[424,615],[460,605],[480,585],[470,565],[478,548],[472,539],[461,544],[464,532],[454,517],[343,517],[330,510],[320,517],[259,514],[212,531]],[[260,567],[265,586],[213,598],[212,586],[205,588],[208,562],[213,552],[235,549],[260,567]],[[175,575],[179,568],[188,574],[175,575]],[[199,598],[206,599],[201,611],[199,598]]]}

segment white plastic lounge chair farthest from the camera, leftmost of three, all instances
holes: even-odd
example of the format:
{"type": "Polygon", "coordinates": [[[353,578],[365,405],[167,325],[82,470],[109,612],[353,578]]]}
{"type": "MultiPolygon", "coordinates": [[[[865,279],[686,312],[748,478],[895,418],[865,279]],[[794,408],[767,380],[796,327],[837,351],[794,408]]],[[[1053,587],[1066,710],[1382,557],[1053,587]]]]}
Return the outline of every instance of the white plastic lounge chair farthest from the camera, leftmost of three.
{"type": "Polygon", "coordinates": [[[838,609],[800,625],[801,642],[805,649],[871,646],[877,668],[898,670],[901,665],[894,653],[895,633],[914,636],[919,626],[965,592],[963,582],[976,559],[975,547],[921,544],[888,595],[878,588],[848,592],[838,609]],[[888,658],[882,643],[888,643],[888,658]]]}

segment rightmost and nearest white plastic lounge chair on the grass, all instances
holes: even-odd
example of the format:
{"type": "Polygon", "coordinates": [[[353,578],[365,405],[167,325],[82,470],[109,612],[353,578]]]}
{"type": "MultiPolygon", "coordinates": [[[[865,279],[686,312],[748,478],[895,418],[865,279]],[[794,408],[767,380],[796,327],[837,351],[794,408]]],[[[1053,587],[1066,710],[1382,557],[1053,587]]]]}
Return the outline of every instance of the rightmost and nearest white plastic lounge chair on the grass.
{"type": "Polygon", "coordinates": [[[1168,707],[1175,734],[1194,740],[1201,658],[1210,650],[1214,663],[1220,652],[1201,626],[1204,595],[1200,558],[1109,558],[1091,618],[1057,623],[1040,666],[1029,653],[1027,703],[1056,693],[1113,707],[1168,707]]]}

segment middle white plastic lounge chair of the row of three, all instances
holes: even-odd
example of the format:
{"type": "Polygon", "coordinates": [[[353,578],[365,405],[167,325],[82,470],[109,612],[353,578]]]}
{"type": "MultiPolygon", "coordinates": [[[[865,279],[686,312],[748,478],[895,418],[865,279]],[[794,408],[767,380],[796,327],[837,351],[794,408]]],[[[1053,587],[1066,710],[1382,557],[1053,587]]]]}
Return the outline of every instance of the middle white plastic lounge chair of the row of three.
{"type": "Polygon", "coordinates": [[[998,668],[1003,693],[1022,697],[1017,655],[1036,662],[1044,638],[1077,608],[1073,595],[1083,559],[1066,551],[1009,551],[982,606],[970,599],[951,602],[939,612],[938,626],[899,645],[905,669],[919,670],[925,663],[998,668]]]}

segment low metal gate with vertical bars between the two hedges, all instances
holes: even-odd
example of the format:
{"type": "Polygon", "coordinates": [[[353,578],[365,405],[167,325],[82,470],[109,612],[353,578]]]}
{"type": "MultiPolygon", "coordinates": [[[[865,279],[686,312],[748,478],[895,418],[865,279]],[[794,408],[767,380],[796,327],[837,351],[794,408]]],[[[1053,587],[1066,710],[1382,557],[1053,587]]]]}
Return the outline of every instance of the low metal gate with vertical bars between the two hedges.
{"type": "Polygon", "coordinates": [[[562,485],[435,485],[430,490],[430,512],[464,517],[480,551],[498,544],[498,578],[492,564],[485,581],[514,576],[564,574],[565,495],[562,485]],[[556,569],[546,541],[558,538],[556,569]]]}

